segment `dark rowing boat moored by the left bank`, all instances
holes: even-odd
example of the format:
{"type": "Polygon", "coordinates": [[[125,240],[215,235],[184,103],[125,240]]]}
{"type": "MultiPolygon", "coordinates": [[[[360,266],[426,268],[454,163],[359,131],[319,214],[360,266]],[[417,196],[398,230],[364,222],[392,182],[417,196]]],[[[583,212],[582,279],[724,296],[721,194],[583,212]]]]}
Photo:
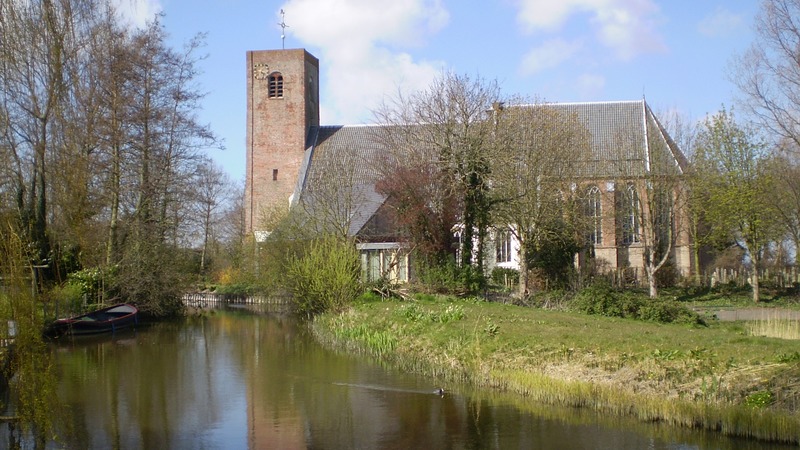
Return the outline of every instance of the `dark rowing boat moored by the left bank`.
{"type": "Polygon", "coordinates": [[[139,319],[138,315],[138,308],[128,303],[120,303],[80,316],[58,319],[47,327],[45,335],[59,337],[114,332],[135,325],[139,319]]]}

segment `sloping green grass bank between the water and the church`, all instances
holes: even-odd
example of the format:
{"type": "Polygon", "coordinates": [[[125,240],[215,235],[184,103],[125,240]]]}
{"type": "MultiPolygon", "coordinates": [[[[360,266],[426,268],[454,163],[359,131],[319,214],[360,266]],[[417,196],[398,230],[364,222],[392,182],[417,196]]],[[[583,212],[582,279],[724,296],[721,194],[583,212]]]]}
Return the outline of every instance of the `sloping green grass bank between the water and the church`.
{"type": "Polygon", "coordinates": [[[708,326],[417,296],[313,323],[331,346],[443,381],[643,421],[800,443],[797,341],[708,326]]]}

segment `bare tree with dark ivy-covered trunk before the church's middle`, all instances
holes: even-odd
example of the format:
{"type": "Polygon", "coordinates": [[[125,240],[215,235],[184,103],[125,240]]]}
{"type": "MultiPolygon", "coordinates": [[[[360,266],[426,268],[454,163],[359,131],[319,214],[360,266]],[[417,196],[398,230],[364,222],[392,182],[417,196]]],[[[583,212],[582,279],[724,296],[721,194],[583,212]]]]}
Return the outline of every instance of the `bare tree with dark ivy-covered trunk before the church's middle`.
{"type": "MultiPolygon", "coordinates": [[[[408,97],[398,96],[376,112],[386,126],[389,152],[401,155],[416,148],[428,152],[460,211],[460,265],[483,276],[484,245],[491,225],[489,150],[493,125],[489,110],[500,99],[496,82],[446,72],[431,86],[408,97]]],[[[468,276],[467,283],[471,283],[468,276]]]]}

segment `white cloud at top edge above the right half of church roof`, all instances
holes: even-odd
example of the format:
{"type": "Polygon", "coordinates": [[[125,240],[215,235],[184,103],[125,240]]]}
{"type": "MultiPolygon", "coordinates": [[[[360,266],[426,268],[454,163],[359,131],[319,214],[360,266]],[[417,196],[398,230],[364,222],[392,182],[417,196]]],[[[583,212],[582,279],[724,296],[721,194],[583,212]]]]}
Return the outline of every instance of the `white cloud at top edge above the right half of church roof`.
{"type": "Polygon", "coordinates": [[[519,0],[518,20],[528,32],[556,32],[575,15],[588,14],[596,37],[618,58],[662,51],[652,0],[519,0]]]}

